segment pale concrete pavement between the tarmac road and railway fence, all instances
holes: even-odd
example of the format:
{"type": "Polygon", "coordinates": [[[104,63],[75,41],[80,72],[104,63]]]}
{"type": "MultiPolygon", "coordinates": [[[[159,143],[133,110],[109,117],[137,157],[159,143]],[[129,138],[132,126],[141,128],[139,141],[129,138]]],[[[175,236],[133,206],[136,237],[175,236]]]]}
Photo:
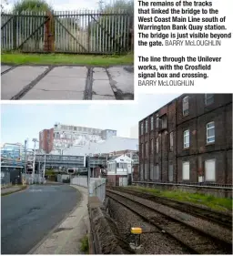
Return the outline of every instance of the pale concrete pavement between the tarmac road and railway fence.
{"type": "Polygon", "coordinates": [[[44,241],[30,251],[30,254],[84,254],[80,251],[80,240],[88,230],[87,189],[73,185],[72,187],[82,193],[76,209],[44,241]]]}

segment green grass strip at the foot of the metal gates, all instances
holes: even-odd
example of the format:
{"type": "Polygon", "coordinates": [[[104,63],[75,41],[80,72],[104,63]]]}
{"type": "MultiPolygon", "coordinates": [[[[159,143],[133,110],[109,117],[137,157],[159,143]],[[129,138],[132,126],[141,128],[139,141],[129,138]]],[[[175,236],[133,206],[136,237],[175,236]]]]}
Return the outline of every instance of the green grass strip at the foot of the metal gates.
{"type": "Polygon", "coordinates": [[[134,55],[122,56],[92,56],[92,55],[64,55],[64,54],[20,54],[5,53],[1,55],[5,64],[40,64],[40,65],[87,65],[87,66],[112,66],[131,65],[134,55]]]}

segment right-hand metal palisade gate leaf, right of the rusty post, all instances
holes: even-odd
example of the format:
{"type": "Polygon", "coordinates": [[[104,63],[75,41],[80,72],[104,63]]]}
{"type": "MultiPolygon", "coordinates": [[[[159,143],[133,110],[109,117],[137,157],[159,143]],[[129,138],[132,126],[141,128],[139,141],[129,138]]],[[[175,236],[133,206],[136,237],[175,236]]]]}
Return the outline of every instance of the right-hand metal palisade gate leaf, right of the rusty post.
{"type": "Polygon", "coordinates": [[[113,54],[130,50],[132,15],[118,13],[54,12],[55,51],[113,54]]]}

